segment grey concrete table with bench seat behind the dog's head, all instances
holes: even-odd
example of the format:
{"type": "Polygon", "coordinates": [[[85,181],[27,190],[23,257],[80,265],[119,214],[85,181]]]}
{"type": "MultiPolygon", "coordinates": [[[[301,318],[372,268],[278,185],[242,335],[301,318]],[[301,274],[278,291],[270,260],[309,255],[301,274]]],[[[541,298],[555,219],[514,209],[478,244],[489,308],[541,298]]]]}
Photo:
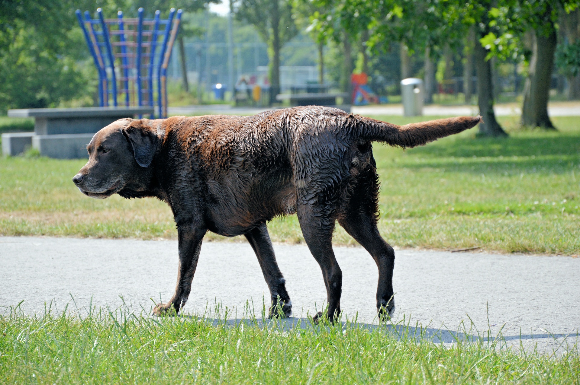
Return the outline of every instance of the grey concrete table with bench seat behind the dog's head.
{"type": "Polygon", "coordinates": [[[2,152],[14,156],[31,146],[49,157],[87,157],[84,146],[97,131],[115,120],[152,112],[148,106],[9,109],[11,118],[34,118],[34,133],[2,134],[2,152]]]}

